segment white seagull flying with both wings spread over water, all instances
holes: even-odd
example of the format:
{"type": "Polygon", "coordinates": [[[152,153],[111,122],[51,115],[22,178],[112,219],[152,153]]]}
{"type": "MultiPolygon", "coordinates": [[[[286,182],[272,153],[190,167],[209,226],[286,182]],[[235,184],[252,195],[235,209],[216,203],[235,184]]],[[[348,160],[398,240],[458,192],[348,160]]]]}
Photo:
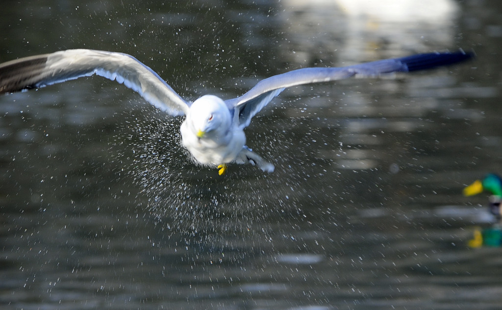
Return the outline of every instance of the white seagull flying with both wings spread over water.
{"type": "Polygon", "coordinates": [[[171,116],[185,116],[181,144],[195,162],[217,167],[219,175],[230,163],[250,163],[264,172],[274,165],[249,149],[244,128],[285,88],[356,78],[378,78],[452,65],[474,56],[457,52],[416,54],[337,68],[302,68],[258,82],[243,95],[223,100],[204,95],[194,102],[181,98],[157,73],[131,55],[87,49],[65,50],[0,64],[0,94],[37,89],[96,74],[138,92],[147,102],[171,116]]]}

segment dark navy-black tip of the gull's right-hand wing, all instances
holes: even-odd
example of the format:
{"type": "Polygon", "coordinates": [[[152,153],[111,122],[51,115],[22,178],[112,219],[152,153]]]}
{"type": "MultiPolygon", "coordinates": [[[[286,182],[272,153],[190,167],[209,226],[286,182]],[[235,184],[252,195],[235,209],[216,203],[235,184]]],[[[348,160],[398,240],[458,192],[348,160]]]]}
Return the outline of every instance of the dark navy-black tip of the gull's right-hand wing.
{"type": "Polygon", "coordinates": [[[464,62],[475,57],[474,52],[464,52],[462,50],[453,53],[429,53],[418,54],[399,58],[398,60],[405,64],[408,71],[418,71],[432,69],[441,66],[453,65],[464,62]]]}

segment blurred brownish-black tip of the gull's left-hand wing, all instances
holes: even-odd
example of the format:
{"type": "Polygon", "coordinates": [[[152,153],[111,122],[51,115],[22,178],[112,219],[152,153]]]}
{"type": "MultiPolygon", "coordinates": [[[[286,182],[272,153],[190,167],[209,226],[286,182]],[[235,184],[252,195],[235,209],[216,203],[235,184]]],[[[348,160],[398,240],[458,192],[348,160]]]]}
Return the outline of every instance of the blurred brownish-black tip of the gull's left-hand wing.
{"type": "Polygon", "coordinates": [[[34,56],[0,64],[0,94],[37,88],[36,77],[45,68],[47,56],[34,56]]]}

